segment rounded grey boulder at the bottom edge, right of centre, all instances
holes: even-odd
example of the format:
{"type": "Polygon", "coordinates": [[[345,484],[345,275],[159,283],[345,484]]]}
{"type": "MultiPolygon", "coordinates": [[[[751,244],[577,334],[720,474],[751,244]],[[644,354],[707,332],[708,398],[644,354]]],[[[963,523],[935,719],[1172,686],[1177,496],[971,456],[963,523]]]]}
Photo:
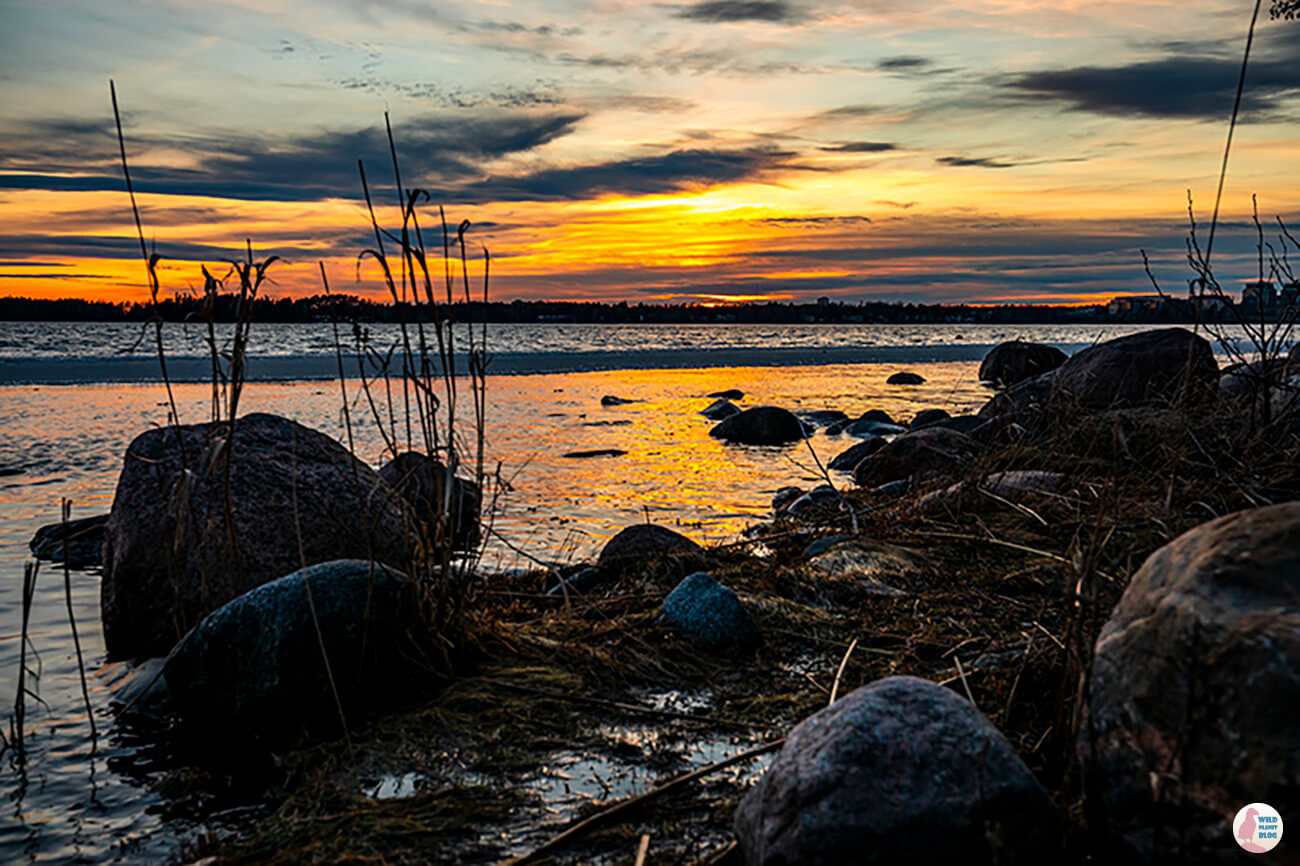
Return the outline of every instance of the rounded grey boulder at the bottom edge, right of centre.
{"type": "Polygon", "coordinates": [[[1037,865],[1060,852],[1060,819],[975,707],[892,676],[790,731],[736,836],[748,866],[1037,865]]]}

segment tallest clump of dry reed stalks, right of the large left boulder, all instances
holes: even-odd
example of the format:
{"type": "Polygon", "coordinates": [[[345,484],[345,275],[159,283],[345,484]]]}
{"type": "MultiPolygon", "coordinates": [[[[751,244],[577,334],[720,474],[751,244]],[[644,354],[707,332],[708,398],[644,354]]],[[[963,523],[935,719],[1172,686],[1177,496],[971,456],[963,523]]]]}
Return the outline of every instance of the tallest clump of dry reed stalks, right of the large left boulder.
{"type": "MultiPolygon", "coordinates": [[[[352,348],[356,354],[358,384],[364,397],[370,420],[382,440],[390,459],[403,451],[422,451],[441,464],[441,477],[425,479],[433,497],[432,514],[419,515],[412,532],[417,536],[411,570],[421,589],[425,623],[438,640],[426,649],[433,667],[439,674],[450,674],[452,655],[465,636],[465,616],[474,589],[474,571],[481,557],[481,544],[491,534],[480,532],[480,545],[465,555],[458,555],[458,538],[465,532],[465,521],[477,523],[480,515],[463,514],[456,497],[456,476],[462,467],[469,467],[473,482],[486,499],[489,489],[485,469],[486,449],[486,369],[488,333],[486,317],[478,324],[458,326],[451,309],[458,295],[467,308],[476,300],[474,282],[471,280],[468,230],[464,221],[452,233],[446,212],[438,208],[442,231],[442,273],[434,276],[436,265],[425,241],[419,207],[429,200],[421,189],[402,186],[402,168],[393,135],[391,121],[385,114],[385,130],[393,163],[393,178],[398,198],[399,226],[385,228],[376,209],[365,164],[358,160],[358,174],[365,198],[367,215],[374,243],[356,259],[358,278],[367,261],[374,264],[389,298],[398,311],[398,338],[393,346],[377,346],[370,332],[352,322],[352,348]],[[459,273],[458,273],[459,270],[459,273]],[[439,285],[441,280],[441,285],[439,285]],[[458,334],[459,332],[459,334],[458,334]],[[464,341],[465,371],[458,371],[458,335],[464,341]],[[467,441],[458,417],[462,377],[468,378],[474,429],[467,441]],[[382,389],[382,390],[381,390],[382,389]]],[[[434,254],[437,255],[437,254],[434,254]]],[[[480,298],[486,303],[490,290],[490,257],[482,250],[484,273],[480,298]]],[[[321,282],[330,293],[324,265],[321,282]]],[[[339,368],[339,387],[343,399],[344,424],[352,437],[350,399],[344,377],[342,339],[334,320],[335,356],[339,368]]],[[[493,502],[495,502],[493,494],[493,502]]]]}

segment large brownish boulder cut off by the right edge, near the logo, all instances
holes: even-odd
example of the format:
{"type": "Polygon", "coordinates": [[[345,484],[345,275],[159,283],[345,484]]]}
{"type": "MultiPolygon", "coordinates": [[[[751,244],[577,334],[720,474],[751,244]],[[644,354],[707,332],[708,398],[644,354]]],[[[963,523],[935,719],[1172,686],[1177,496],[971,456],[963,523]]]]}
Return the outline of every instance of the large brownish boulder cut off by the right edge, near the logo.
{"type": "Polygon", "coordinates": [[[1101,629],[1084,697],[1089,823],[1123,859],[1242,862],[1238,809],[1300,814],[1300,502],[1153,553],[1101,629]]]}

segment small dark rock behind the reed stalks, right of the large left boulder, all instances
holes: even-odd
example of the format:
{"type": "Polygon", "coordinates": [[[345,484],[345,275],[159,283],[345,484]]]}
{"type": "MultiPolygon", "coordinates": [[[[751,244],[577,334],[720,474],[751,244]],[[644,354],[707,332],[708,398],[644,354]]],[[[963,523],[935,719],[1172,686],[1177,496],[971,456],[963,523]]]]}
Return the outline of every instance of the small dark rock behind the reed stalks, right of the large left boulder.
{"type": "Polygon", "coordinates": [[[484,494],[477,484],[448,472],[442,460],[419,451],[396,455],[384,464],[380,477],[402,494],[412,516],[425,527],[430,541],[450,537],[452,546],[459,550],[468,550],[478,544],[478,514],[484,494]]]}

